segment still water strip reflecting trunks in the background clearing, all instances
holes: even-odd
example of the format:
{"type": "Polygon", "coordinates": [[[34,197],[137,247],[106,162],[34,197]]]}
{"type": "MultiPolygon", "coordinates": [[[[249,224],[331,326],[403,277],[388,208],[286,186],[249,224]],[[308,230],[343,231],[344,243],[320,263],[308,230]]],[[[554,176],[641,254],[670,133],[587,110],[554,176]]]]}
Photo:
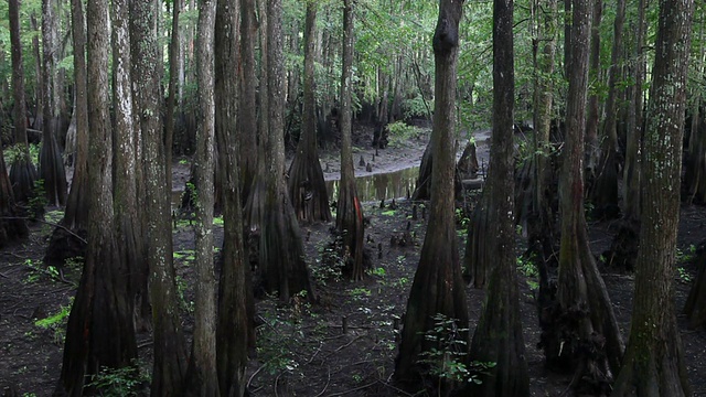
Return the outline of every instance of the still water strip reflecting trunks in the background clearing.
{"type": "MultiPolygon", "coordinates": [[[[395,172],[359,175],[355,178],[357,197],[362,202],[407,197],[415,190],[419,168],[413,167],[395,172]]],[[[339,196],[339,180],[327,181],[329,200],[339,196]]]]}

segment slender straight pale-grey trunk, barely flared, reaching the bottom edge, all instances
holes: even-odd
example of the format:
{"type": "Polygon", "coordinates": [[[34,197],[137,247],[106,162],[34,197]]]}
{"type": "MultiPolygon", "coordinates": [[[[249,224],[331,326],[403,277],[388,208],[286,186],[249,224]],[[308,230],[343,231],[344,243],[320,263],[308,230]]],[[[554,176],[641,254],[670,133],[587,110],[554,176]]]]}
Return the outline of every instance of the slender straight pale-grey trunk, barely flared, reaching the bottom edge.
{"type": "MultiPolygon", "coordinates": [[[[199,3],[196,81],[199,124],[195,176],[194,336],[186,372],[188,396],[218,396],[216,367],[216,279],[213,261],[213,205],[215,168],[214,34],[216,1],[199,3]]],[[[233,21],[231,21],[233,23],[233,21]]],[[[231,28],[233,30],[233,28],[231,28]]]]}

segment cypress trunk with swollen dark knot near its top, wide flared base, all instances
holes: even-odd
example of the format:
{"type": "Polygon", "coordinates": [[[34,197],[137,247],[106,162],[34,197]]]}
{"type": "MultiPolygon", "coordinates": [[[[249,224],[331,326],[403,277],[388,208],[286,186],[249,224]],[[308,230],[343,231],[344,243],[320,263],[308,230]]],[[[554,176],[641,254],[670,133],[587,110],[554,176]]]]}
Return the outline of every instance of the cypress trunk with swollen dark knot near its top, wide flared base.
{"type": "MultiPolygon", "coordinates": [[[[395,363],[395,377],[399,382],[417,380],[428,373],[428,366],[420,363],[420,360],[425,358],[425,352],[440,348],[425,337],[425,333],[435,326],[435,315],[442,314],[453,319],[461,330],[467,329],[469,323],[453,222],[453,104],[462,4],[458,0],[442,0],[439,3],[439,19],[434,34],[436,100],[431,136],[435,158],[431,204],[429,225],[407,301],[402,344],[395,363]]],[[[459,332],[457,341],[460,344],[468,343],[468,331],[459,332]]],[[[448,387],[449,385],[443,386],[448,387]]]]}

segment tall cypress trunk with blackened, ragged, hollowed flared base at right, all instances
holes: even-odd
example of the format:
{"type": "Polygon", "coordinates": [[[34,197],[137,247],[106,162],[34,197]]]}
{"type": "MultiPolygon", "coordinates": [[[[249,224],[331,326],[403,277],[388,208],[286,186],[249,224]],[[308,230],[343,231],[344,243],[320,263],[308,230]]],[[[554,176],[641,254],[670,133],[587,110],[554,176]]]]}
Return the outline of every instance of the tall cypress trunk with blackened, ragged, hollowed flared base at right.
{"type": "Polygon", "coordinates": [[[614,374],[620,367],[623,352],[608,291],[590,251],[584,215],[589,3],[587,0],[575,0],[573,3],[567,136],[561,153],[561,242],[557,302],[554,309],[544,308],[541,313],[547,315],[542,321],[542,345],[547,362],[556,368],[575,372],[571,387],[577,386],[577,382],[586,374],[603,374],[605,378],[591,382],[600,385],[610,383],[610,374],[614,374]]]}

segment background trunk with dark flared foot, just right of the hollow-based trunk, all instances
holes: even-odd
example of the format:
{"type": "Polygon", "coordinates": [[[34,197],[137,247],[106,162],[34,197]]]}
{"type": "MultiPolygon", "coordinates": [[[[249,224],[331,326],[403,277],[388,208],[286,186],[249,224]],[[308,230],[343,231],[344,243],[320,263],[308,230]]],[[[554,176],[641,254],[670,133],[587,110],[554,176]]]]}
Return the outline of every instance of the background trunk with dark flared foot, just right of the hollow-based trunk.
{"type": "Polygon", "coordinates": [[[601,141],[600,161],[592,191],[592,202],[600,216],[616,217],[618,206],[618,78],[622,71],[622,30],[625,21],[625,0],[616,4],[613,49],[608,69],[608,100],[601,141]]]}

